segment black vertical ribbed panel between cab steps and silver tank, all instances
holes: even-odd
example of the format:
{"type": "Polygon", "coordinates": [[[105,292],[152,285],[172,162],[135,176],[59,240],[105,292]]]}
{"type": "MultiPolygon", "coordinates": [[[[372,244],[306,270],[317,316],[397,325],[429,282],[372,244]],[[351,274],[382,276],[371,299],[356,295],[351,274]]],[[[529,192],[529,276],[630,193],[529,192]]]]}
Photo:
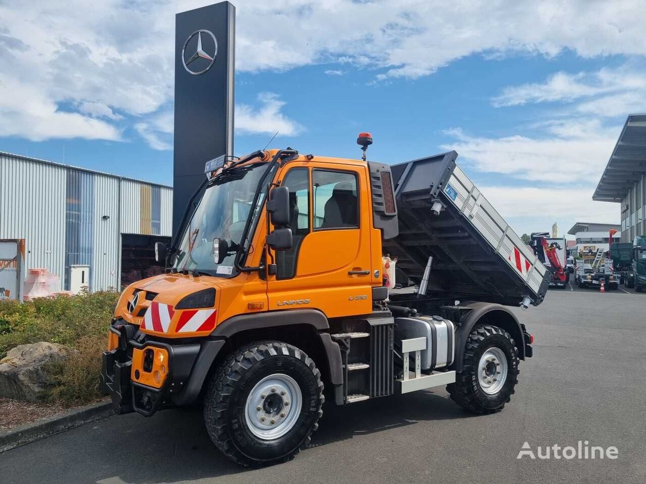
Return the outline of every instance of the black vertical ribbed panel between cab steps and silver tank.
{"type": "Polygon", "coordinates": [[[393,327],[370,327],[370,398],[393,394],[393,327]]]}

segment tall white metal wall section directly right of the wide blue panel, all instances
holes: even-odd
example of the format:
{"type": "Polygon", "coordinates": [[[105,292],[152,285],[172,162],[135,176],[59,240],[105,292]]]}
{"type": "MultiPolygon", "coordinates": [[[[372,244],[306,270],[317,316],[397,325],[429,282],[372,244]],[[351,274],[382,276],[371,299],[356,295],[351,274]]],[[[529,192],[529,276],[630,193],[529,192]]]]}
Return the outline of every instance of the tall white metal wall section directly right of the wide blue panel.
{"type": "Polygon", "coordinates": [[[119,287],[119,185],[118,178],[94,176],[94,252],[90,270],[90,289],[93,291],[119,287]]]}

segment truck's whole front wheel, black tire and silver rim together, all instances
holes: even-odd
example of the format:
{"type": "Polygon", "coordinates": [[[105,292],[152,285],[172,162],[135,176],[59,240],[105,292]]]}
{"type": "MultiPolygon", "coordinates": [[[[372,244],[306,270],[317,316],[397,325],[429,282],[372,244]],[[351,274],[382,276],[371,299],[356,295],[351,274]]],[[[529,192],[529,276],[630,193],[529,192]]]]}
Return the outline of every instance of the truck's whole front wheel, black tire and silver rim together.
{"type": "Polygon", "coordinates": [[[322,415],[323,383],[314,362],[287,343],[238,348],[214,374],[204,421],[225,456],[247,467],[292,459],[322,415]]]}

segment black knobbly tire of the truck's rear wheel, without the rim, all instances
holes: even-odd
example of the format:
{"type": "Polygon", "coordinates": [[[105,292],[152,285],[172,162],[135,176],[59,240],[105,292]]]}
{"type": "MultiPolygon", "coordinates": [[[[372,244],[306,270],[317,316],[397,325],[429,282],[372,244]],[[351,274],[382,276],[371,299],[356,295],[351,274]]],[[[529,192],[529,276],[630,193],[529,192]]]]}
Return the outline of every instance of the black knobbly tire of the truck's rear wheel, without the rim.
{"type": "Polygon", "coordinates": [[[451,398],[460,407],[475,414],[493,414],[510,401],[518,383],[518,348],[514,339],[505,330],[492,325],[475,325],[466,340],[462,371],[455,375],[455,383],[446,386],[451,398]],[[503,350],[507,358],[505,385],[496,394],[483,392],[478,382],[478,363],[488,348],[503,350]]]}

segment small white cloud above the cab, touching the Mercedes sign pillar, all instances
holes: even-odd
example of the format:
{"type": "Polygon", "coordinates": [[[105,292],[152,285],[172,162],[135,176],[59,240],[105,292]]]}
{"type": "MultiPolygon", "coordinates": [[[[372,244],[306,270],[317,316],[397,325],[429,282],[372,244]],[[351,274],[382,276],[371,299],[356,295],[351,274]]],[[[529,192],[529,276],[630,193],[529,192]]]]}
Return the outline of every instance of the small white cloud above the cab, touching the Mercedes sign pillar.
{"type": "Polygon", "coordinates": [[[258,101],[261,103],[258,109],[244,104],[236,106],[236,130],[264,134],[278,131],[278,136],[295,136],[302,132],[302,126],[281,112],[285,102],[280,100],[278,94],[262,92],[258,94],[258,101]]]}

